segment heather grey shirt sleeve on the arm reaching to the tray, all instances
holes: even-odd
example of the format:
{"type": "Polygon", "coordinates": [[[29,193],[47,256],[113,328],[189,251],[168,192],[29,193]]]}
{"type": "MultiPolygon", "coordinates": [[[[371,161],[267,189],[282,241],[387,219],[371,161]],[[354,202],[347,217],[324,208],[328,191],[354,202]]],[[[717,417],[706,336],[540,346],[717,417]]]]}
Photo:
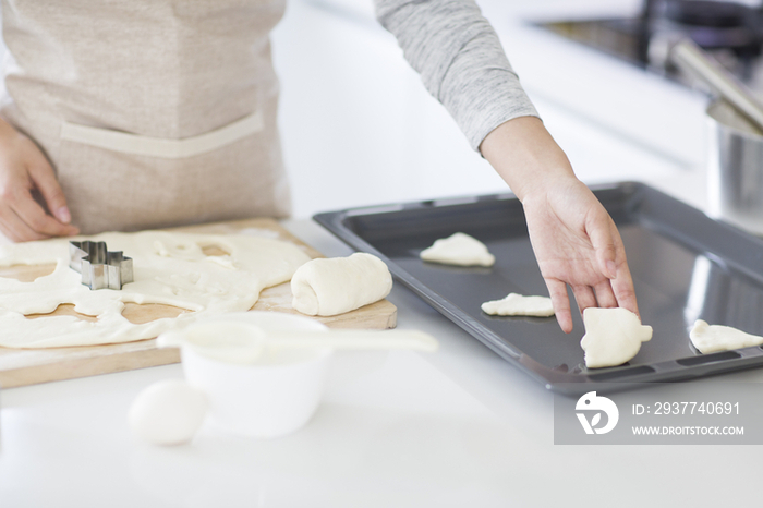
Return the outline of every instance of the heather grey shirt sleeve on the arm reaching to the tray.
{"type": "Polygon", "coordinates": [[[374,1],[376,17],[472,148],[504,122],[538,117],[473,0],[374,1]]]}

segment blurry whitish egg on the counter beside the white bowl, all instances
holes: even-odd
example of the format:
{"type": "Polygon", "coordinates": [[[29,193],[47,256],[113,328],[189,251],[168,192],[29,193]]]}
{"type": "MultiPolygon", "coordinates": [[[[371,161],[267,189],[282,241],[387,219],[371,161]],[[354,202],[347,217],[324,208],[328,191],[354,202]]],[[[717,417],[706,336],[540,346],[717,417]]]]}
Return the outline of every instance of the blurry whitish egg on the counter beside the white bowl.
{"type": "Polygon", "coordinates": [[[135,398],[128,422],[153,445],[182,445],[193,439],[209,409],[206,394],[181,379],[154,383],[135,398]]]}

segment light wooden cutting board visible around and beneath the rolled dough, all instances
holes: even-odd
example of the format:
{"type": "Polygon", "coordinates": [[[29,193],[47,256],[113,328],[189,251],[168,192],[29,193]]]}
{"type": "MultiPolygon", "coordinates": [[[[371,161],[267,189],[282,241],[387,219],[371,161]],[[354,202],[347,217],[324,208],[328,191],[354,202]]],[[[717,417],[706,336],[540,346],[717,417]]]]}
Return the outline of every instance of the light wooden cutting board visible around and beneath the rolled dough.
{"type": "MultiPolygon", "coordinates": [[[[272,219],[247,219],[233,222],[219,222],[177,228],[172,231],[234,234],[243,230],[254,230],[250,232],[295,243],[301,245],[311,257],[323,257],[318,251],[304,244],[272,219]]],[[[205,250],[205,252],[208,255],[220,254],[220,252],[215,252],[214,247],[210,251],[205,250]]],[[[34,280],[37,277],[51,273],[53,268],[53,265],[32,267],[13,266],[11,268],[0,268],[0,277],[34,280]]],[[[299,314],[291,307],[291,288],[289,282],[264,290],[252,310],[299,314]]],[[[174,317],[181,312],[183,311],[168,305],[126,304],[122,315],[133,323],[146,323],[160,317],[174,317]]],[[[92,317],[76,314],[72,305],[60,305],[56,312],[48,315],[62,314],[77,315],[81,318],[93,319],[92,317]]],[[[39,316],[27,317],[35,318],[39,316]]],[[[330,317],[316,317],[316,319],[330,328],[395,328],[397,324],[397,307],[387,300],[382,300],[347,314],[330,317]]],[[[158,349],[156,347],[156,339],[121,344],[77,348],[0,348],[0,387],[11,388],[178,362],[180,362],[178,349],[158,349]]]]}

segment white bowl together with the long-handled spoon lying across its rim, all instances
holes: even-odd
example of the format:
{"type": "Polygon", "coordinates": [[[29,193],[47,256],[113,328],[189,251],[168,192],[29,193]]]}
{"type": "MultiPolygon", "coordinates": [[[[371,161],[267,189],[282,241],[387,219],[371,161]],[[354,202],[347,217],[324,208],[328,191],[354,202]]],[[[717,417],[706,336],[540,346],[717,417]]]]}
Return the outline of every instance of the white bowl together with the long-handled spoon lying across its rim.
{"type": "Polygon", "coordinates": [[[287,435],[310,421],[335,349],[437,349],[419,331],[328,330],[272,312],[199,320],[162,334],[158,343],[180,347],[186,380],[209,396],[211,424],[255,437],[287,435]]]}

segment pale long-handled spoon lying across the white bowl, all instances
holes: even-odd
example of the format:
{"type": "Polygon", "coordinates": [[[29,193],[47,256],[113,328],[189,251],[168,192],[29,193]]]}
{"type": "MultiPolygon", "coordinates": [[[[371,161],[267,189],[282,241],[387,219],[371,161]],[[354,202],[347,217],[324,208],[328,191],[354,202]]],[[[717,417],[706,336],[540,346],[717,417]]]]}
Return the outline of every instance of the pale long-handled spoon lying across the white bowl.
{"type": "Polygon", "coordinates": [[[255,363],[269,349],[344,349],[436,351],[437,339],[416,330],[299,330],[270,331],[244,323],[199,324],[167,331],[160,348],[187,344],[208,358],[229,363],[255,363]]]}

